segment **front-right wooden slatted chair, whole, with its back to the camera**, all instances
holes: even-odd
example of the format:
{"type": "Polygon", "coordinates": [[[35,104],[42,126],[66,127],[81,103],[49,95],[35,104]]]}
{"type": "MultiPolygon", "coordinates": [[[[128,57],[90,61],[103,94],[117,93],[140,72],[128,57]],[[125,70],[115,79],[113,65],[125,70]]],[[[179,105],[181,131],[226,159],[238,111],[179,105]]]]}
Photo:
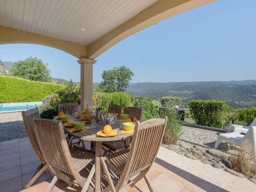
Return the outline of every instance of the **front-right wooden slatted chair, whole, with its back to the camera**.
{"type": "Polygon", "coordinates": [[[162,143],[166,122],[167,117],[136,122],[131,148],[101,157],[102,167],[109,182],[109,187],[103,191],[119,191],[126,185],[133,187],[142,178],[145,178],[150,191],[153,191],[146,174],[154,163],[162,143]],[[113,171],[117,172],[119,177],[113,178],[113,171]]]}

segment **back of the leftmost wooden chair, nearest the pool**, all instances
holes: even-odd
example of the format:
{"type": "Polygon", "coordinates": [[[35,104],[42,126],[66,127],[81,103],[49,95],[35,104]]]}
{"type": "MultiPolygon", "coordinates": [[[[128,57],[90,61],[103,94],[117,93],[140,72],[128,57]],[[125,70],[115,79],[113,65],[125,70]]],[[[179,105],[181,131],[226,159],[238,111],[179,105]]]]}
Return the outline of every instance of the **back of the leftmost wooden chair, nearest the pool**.
{"type": "Polygon", "coordinates": [[[34,131],[34,119],[39,119],[40,114],[38,109],[29,109],[27,111],[21,111],[21,115],[23,118],[23,122],[25,125],[25,129],[27,131],[28,139],[33,147],[36,155],[38,156],[39,160],[45,164],[45,159],[42,155],[41,150],[39,149],[38,142],[36,140],[36,135],[34,131]]]}

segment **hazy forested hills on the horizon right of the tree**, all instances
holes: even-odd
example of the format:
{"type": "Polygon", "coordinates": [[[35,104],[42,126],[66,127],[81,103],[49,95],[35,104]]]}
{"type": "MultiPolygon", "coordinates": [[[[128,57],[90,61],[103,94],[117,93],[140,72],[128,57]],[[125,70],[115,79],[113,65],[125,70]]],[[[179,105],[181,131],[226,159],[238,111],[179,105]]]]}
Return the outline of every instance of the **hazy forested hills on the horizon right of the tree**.
{"type": "Polygon", "coordinates": [[[233,107],[256,106],[256,81],[212,81],[131,83],[127,92],[143,97],[159,99],[164,96],[180,97],[186,104],[189,100],[221,100],[233,107]]]}

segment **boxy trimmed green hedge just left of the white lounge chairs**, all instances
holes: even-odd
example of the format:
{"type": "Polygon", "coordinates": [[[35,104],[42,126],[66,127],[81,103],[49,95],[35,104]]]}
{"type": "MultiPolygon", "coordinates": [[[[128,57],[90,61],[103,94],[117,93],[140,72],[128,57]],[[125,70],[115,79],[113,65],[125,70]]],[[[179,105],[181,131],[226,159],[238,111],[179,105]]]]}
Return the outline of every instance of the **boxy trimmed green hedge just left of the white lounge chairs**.
{"type": "Polygon", "coordinates": [[[197,125],[222,128],[225,120],[225,101],[190,100],[188,107],[197,125]]]}

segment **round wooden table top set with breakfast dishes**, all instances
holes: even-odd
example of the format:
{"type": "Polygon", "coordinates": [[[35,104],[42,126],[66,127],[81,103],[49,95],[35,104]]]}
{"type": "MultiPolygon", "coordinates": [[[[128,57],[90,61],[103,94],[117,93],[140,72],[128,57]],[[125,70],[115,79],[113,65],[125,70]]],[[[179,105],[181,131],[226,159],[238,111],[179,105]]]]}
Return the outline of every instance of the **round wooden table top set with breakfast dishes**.
{"type": "MultiPolygon", "coordinates": [[[[85,126],[86,125],[90,126],[89,123],[88,124],[86,123],[85,126]]],[[[104,125],[105,124],[103,122],[97,123],[96,128],[90,127],[90,129],[86,130],[85,132],[76,132],[76,133],[69,132],[69,130],[72,129],[72,127],[63,125],[63,128],[72,137],[78,138],[81,140],[86,140],[86,141],[118,141],[118,140],[124,140],[125,138],[131,137],[133,135],[133,133],[121,133],[121,130],[119,129],[120,122],[117,121],[116,123],[111,125],[113,129],[117,129],[117,135],[110,136],[110,137],[97,136],[97,132],[102,130],[104,125]]]]}

